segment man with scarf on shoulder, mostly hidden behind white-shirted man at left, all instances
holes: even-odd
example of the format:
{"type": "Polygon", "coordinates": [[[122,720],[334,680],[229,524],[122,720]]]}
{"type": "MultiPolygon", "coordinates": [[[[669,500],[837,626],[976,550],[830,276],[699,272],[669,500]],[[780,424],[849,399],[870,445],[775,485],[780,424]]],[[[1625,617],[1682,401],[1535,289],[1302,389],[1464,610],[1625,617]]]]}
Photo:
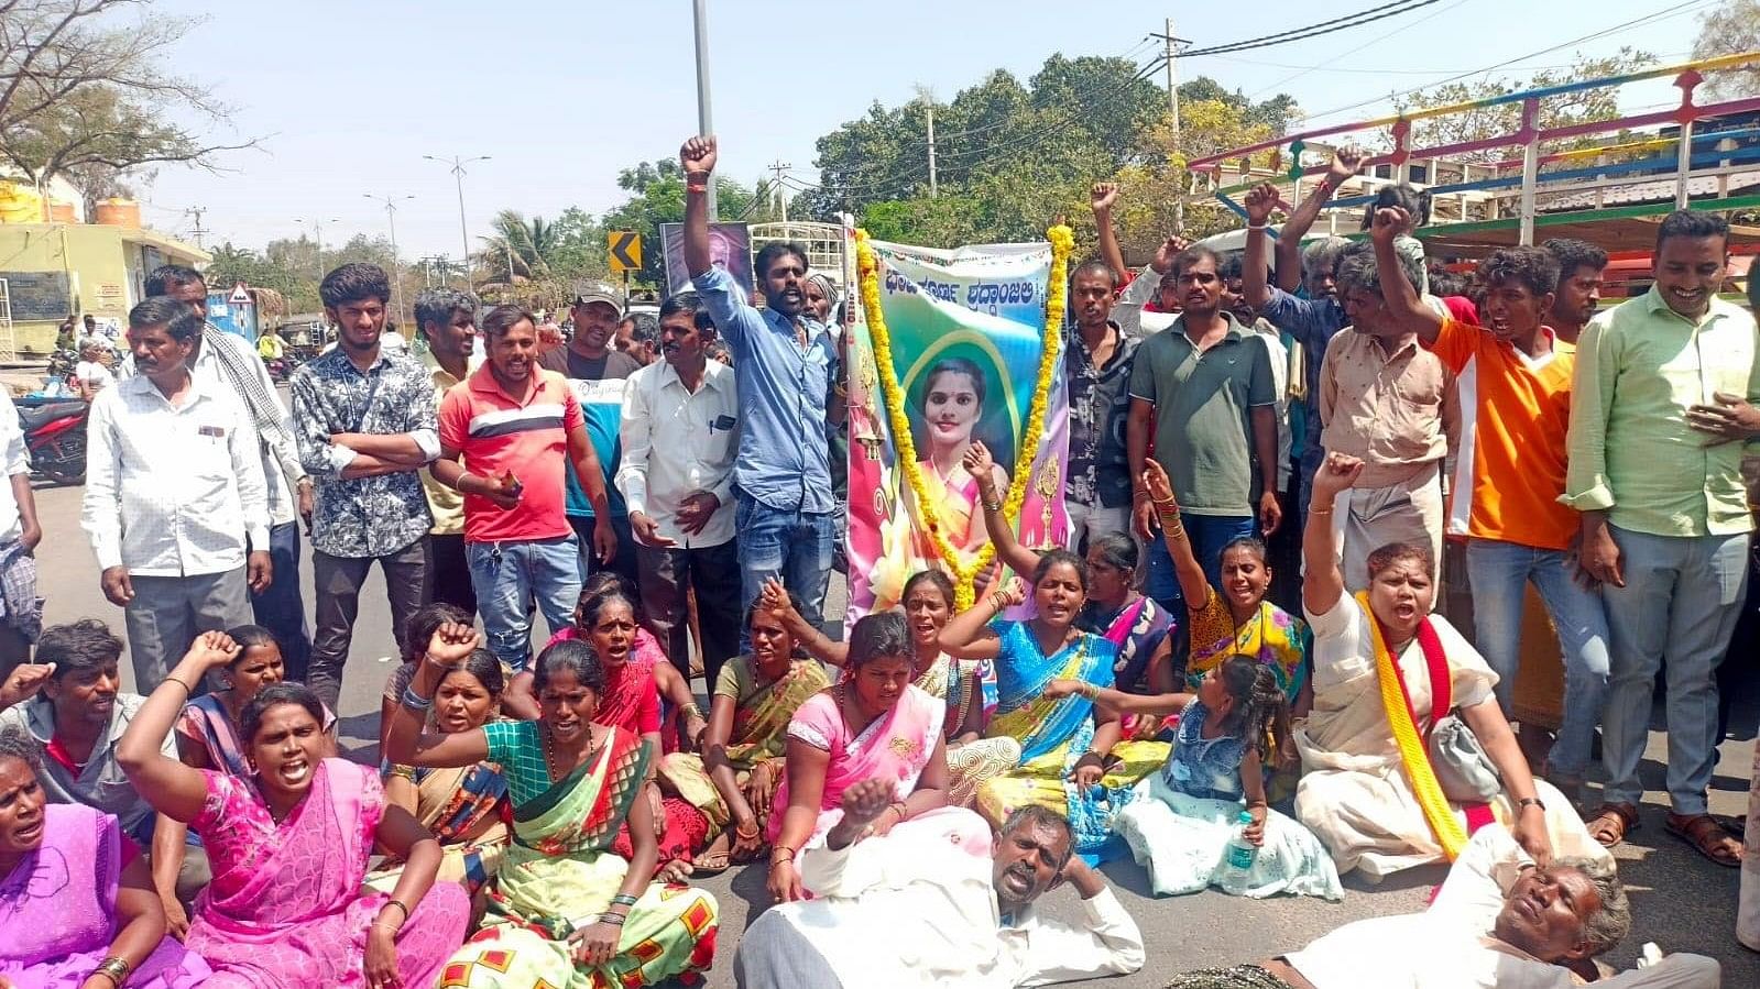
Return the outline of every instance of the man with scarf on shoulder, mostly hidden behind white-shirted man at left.
{"type": "MultiPolygon", "coordinates": [[[[262,456],[262,484],[269,503],[269,542],[252,546],[268,549],[275,563],[275,579],[252,595],[250,609],[282,644],[287,679],[303,681],[312,660],[312,637],[306,630],[306,602],[299,593],[299,519],[312,517],[312,479],[299,465],[299,445],[294,442],[294,421],[275,391],[269,370],[252,350],[250,341],[208,322],[208,282],[194,267],[165,264],[146,276],[148,296],[169,296],[190,306],[202,319],[202,333],[190,348],[190,373],[220,391],[232,394],[250,415],[262,456]]],[[[134,361],[123,361],[123,375],[134,373],[134,361]]]]}

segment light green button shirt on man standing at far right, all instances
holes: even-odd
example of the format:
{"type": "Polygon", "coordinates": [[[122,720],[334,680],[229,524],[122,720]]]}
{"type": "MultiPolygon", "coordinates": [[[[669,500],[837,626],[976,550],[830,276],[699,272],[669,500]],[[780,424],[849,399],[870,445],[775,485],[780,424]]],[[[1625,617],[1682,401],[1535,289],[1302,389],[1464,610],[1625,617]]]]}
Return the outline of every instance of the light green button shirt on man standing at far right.
{"type": "Polygon", "coordinates": [[[1570,468],[1559,502],[1649,535],[1735,535],[1753,530],[1742,487],[1748,443],[1716,443],[1686,424],[1714,392],[1760,403],[1755,319],[1712,299],[1693,320],[1661,290],[1607,310],[1577,341],[1570,468]]]}

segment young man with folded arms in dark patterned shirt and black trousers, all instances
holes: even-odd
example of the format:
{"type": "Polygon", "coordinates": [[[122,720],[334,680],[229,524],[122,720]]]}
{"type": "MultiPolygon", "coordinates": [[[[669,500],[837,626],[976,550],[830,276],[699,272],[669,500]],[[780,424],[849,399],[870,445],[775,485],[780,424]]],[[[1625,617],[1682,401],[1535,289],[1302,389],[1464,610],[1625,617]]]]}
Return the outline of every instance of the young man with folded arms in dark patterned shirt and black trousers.
{"type": "Polygon", "coordinates": [[[378,561],[391,632],[426,600],[428,530],[421,468],[440,456],[435,389],[408,354],[380,348],[391,280],[377,264],[343,264],[319,285],[336,348],[294,371],[299,459],[317,480],[312,582],[317,634],[306,685],[336,707],[354,641],[361,584],[378,561]]]}

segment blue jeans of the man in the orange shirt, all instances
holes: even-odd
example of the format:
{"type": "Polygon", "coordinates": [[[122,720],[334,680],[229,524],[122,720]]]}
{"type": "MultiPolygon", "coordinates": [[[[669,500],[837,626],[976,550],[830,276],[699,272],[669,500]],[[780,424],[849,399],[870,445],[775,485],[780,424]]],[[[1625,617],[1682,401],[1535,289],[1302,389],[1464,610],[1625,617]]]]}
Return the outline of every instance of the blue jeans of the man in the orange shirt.
{"type": "Polygon", "coordinates": [[[1498,672],[1498,704],[1505,714],[1521,665],[1522,604],[1535,582],[1558,628],[1565,658],[1565,723],[1549,757],[1566,781],[1589,773],[1595,727],[1607,702],[1607,612],[1602,595],[1575,581],[1575,567],[1561,549],[1473,538],[1466,544],[1466,577],[1473,584],[1473,634],[1478,653],[1498,672]]]}

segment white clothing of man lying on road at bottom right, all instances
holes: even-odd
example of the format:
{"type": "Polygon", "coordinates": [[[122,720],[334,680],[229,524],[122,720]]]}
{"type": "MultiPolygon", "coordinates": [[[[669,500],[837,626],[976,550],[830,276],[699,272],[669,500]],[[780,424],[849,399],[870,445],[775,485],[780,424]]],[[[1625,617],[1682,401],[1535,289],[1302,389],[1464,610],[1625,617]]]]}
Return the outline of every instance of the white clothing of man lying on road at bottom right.
{"type": "MultiPolygon", "coordinates": [[[[1478,829],[1424,913],[1345,924],[1285,956],[1316,989],[1570,989],[1570,970],[1492,936],[1503,894],[1533,861],[1501,824],[1478,829]]],[[[1595,985],[1609,989],[1714,989],[1718,964],[1674,954],[1595,985]]]]}

